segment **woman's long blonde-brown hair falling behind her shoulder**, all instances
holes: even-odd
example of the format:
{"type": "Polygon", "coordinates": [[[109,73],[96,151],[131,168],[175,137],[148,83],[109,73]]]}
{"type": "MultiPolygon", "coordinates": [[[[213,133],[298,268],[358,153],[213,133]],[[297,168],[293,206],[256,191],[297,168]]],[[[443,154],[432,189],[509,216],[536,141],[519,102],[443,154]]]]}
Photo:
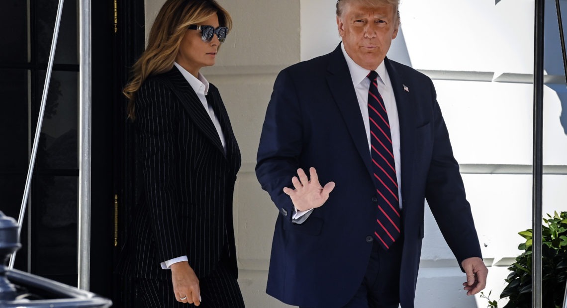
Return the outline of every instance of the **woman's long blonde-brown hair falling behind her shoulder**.
{"type": "Polygon", "coordinates": [[[128,116],[136,118],[134,101],[136,92],[150,75],[171,70],[181,40],[190,24],[198,24],[217,14],[219,24],[230,29],[232,19],[229,12],[215,0],[167,0],[159,10],[146,50],[132,67],[132,78],[122,90],[128,98],[128,116]]]}

